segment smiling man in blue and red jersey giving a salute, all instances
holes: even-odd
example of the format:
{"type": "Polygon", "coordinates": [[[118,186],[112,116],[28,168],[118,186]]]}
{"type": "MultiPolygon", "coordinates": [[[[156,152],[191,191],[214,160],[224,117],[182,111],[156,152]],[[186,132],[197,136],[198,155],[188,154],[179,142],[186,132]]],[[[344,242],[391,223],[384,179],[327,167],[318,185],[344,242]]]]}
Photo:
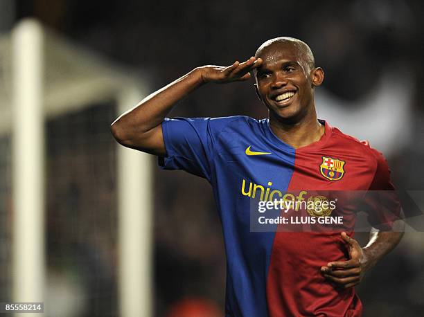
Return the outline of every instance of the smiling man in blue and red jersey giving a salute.
{"type": "Polygon", "coordinates": [[[304,200],[308,190],[394,190],[380,153],[317,120],[314,91],[323,80],[305,43],[279,37],[245,62],[194,69],[112,124],[122,145],[159,156],[165,169],[186,170],[211,183],[227,254],[226,316],[361,316],[355,284],[403,235],[396,232],[402,230],[396,197],[385,203],[389,215],[369,201],[370,219],[387,230],[373,230],[364,248],[352,237],[354,212],[346,210],[335,211],[344,212],[348,234],[285,232],[282,225],[251,230],[255,198],[272,200],[290,191],[304,200]],[[248,80],[250,71],[269,118],[166,118],[198,87],[248,80]]]}

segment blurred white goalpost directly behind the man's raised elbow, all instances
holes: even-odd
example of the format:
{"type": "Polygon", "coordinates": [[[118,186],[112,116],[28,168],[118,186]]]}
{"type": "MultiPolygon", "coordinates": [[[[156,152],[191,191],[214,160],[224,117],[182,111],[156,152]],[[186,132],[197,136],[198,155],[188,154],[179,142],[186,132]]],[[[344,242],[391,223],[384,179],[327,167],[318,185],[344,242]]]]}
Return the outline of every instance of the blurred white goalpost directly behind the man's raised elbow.
{"type": "MultiPolygon", "coordinates": [[[[118,112],[139,100],[140,91],[123,91],[118,112]]],[[[152,158],[119,146],[117,160],[121,316],[152,316],[152,158]]]]}

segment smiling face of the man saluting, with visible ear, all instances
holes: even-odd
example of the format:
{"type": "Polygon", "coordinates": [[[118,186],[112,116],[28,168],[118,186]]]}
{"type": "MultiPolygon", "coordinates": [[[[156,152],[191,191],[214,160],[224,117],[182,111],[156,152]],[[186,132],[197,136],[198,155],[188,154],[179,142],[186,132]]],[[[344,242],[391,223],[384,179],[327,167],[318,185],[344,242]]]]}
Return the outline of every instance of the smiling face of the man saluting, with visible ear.
{"type": "Polygon", "coordinates": [[[257,69],[256,89],[270,109],[270,118],[303,118],[313,106],[313,87],[321,84],[322,70],[310,70],[299,49],[290,43],[271,44],[257,57],[263,63],[257,69]],[[317,70],[321,78],[316,78],[317,70]]]}

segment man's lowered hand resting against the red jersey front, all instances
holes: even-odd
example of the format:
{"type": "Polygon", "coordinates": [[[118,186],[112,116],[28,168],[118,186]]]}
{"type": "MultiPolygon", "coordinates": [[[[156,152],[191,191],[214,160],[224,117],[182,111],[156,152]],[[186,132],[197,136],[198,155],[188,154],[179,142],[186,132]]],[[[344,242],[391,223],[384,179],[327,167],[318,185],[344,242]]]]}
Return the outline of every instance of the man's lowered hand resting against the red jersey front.
{"type": "Polygon", "coordinates": [[[331,282],[345,289],[359,284],[364,273],[369,269],[369,259],[364,249],[353,238],[342,233],[342,239],[348,244],[351,257],[348,261],[329,262],[327,266],[321,266],[321,273],[331,282]]]}

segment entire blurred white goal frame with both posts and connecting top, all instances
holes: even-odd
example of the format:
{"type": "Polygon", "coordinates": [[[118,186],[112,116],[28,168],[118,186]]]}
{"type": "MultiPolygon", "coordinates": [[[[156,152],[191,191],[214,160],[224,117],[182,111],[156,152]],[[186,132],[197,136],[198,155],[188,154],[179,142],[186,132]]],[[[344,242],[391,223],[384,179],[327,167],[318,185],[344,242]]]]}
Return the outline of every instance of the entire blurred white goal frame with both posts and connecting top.
{"type": "MultiPolygon", "coordinates": [[[[35,19],[19,22],[0,47],[6,48],[0,53],[10,51],[3,60],[11,64],[12,89],[5,93],[0,87],[0,136],[10,134],[12,140],[11,300],[45,302],[45,120],[110,100],[116,100],[118,116],[147,94],[147,85],[35,19]]],[[[116,147],[118,316],[148,317],[153,314],[152,158],[116,147]]],[[[45,302],[46,315],[49,305],[55,302],[45,302]]]]}

